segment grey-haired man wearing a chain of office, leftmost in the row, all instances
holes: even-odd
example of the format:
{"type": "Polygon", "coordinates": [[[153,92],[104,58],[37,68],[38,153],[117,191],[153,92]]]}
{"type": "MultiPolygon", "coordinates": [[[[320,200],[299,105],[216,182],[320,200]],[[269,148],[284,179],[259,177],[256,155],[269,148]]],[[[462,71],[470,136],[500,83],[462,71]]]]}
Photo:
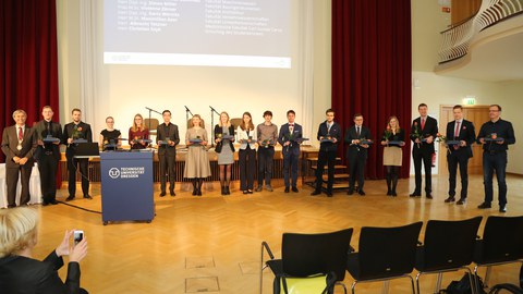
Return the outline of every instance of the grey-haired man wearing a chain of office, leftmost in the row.
{"type": "Polygon", "coordinates": [[[27,205],[31,200],[29,180],[34,166],[33,154],[36,149],[35,130],[25,125],[27,113],[22,109],[17,109],[13,112],[13,120],[15,124],[3,128],[2,134],[2,151],[5,155],[8,208],[16,207],[19,172],[22,177],[20,205],[27,205]]]}

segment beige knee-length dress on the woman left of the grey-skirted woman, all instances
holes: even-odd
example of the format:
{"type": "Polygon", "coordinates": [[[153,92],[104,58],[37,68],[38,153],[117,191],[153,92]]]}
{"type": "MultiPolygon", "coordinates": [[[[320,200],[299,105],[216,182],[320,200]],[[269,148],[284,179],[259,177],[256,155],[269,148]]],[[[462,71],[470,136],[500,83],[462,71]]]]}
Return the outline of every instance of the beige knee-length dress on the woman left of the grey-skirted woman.
{"type": "MultiPolygon", "coordinates": [[[[205,128],[191,127],[185,134],[185,140],[199,138],[208,142],[207,132],[205,128]]],[[[191,145],[188,146],[187,156],[185,157],[185,169],[183,176],[188,179],[207,177],[210,176],[209,157],[205,146],[191,145]]]]}

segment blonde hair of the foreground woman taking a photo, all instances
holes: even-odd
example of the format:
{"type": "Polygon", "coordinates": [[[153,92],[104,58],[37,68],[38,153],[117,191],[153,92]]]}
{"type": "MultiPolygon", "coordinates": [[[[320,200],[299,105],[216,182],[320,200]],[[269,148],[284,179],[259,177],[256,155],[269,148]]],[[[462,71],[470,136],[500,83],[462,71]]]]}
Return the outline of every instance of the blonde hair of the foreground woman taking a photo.
{"type": "Polygon", "coordinates": [[[19,207],[0,210],[0,258],[36,245],[38,211],[19,207]]]}

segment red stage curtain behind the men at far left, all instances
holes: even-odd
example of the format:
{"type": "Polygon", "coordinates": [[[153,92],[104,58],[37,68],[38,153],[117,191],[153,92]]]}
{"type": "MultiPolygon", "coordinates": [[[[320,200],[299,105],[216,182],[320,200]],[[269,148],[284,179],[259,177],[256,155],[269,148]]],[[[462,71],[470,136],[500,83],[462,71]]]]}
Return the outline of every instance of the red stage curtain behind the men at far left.
{"type": "Polygon", "coordinates": [[[16,109],[33,125],[49,105],[59,121],[56,0],[2,0],[0,15],[0,130],[16,109]]]}

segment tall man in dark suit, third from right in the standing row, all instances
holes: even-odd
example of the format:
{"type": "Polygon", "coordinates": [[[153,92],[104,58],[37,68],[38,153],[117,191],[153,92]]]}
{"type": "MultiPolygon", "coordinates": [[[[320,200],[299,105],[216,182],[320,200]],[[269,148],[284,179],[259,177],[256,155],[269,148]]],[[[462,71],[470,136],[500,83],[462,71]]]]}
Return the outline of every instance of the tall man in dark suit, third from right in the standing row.
{"type": "Polygon", "coordinates": [[[419,118],[415,119],[412,122],[411,126],[411,140],[414,143],[412,148],[412,158],[414,159],[414,172],[416,188],[411,194],[411,197],[421,197],[422,196],[422,162],[425,168],[425,193],[427,198],[433,198],[433,181],[431,181],[431,167],[433,167],[433,155],[434,150],[434,139],[438,134],[438,121],[436,119],[428,117],[427,114],[427,105],[421,103],[417,107],[419,112],[419,118]]]}

